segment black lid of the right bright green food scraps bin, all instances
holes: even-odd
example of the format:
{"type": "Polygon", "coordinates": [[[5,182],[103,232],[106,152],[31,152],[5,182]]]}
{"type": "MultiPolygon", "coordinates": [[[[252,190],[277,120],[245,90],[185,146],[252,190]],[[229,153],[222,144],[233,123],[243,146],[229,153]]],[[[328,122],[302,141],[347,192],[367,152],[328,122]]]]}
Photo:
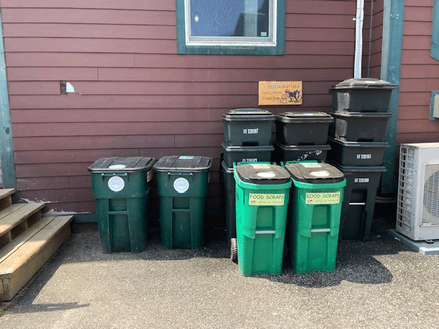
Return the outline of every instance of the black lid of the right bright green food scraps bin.
{"type": "Polygon", "coordinates": [[[326,162],[294,162],[286,163],[285,169],[293,180],[310,184],[338,183],[344,180],[342,171],[326,162]]]}

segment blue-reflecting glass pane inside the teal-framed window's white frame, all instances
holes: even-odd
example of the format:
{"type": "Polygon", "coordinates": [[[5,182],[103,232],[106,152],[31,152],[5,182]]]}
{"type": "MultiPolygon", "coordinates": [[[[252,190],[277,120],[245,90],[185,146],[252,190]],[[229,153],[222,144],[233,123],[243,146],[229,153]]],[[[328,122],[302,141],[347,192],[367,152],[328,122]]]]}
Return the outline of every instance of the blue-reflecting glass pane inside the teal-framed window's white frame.
{"type": "Polygon", "coordinates": [[[268,0],[191,0],[192,36],[270,37],[268,0]]]}

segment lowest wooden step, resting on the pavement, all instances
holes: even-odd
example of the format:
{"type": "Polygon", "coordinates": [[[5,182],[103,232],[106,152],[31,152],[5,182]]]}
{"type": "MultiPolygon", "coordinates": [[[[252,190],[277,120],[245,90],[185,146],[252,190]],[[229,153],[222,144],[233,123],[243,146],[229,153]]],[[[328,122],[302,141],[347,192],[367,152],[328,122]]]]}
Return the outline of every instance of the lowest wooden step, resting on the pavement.
{"type": "Polygon", "coordinates": [[[71,235],[73,215],[43,217],[0,249],[0,301],[11,300],[71,235]]]}

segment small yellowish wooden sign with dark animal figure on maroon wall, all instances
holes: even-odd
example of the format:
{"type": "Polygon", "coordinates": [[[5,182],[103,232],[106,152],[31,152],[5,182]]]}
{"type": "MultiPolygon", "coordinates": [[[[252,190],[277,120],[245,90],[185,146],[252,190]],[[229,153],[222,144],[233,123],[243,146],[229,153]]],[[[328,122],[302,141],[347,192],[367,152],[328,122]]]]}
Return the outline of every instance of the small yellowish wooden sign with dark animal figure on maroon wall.
{"type": "Polygon", "coordinates": [[[260,81],[259,105],[302,105],[302,82],[260,81]]]}

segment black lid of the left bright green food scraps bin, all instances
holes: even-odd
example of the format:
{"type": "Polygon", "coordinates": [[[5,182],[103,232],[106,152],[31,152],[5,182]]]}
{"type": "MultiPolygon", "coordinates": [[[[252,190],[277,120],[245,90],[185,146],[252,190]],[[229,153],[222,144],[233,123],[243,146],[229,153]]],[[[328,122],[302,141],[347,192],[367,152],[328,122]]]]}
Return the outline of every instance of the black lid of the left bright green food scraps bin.
{"type": "Polygon", "coordinates": [[[243,182],[253,184],[283,184],[290,182],[289,173],[277,164],[238,164],[236,171],[243,182]]]}

